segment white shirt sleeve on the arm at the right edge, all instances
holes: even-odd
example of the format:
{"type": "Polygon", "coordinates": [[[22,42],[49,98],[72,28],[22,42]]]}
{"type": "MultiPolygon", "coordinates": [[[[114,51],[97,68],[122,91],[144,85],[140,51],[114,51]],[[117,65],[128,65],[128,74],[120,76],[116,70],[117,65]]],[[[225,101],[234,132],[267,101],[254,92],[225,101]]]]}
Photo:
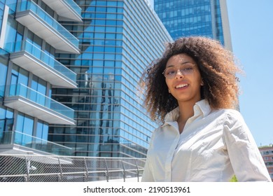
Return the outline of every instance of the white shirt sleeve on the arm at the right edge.
{"type": "Polygon", "coordinates": [[[244,118],[230,111],[223,125],[223,141],[238,181],[272,181],[244,118]]]}

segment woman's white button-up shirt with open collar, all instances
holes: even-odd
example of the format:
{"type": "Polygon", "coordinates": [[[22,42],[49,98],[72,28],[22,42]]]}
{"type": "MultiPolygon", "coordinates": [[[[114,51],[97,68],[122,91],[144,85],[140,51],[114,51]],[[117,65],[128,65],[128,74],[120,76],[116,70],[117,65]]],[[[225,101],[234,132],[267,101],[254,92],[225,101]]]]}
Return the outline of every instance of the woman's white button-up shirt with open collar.
{"type": "Polygon", "coordinates": [[[179,108],[153,132],[142,181],[271,181],[241,114],[203,99],[179,133],[179,108]]]}

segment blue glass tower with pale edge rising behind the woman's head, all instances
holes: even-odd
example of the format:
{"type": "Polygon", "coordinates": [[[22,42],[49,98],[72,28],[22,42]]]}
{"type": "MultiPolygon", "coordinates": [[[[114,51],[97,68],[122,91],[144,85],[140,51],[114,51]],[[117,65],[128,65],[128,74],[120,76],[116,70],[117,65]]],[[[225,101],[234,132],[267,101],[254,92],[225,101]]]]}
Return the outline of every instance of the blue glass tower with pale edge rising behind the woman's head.
{"type": "Polygon", "coordinates": [[[153,1],[155,12],[174,40],[181,36],[208,36],[232,50],[225,0],[153,1]]]}

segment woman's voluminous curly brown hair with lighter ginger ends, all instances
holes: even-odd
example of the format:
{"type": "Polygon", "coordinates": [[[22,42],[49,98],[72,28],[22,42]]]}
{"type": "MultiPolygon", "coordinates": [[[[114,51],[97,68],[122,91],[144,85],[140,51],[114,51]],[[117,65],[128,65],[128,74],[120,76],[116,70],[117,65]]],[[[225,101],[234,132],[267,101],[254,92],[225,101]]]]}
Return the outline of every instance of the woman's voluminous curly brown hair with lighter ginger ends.
{"type": "Polygon", "coordinates": [[[201,36],[182,37],[167,43],[165,52],[155,60],[141,78],[144,87],[144,104],[153,120],[163,121],[165,115],[178,106],[169,93],[162,72],[173,55],[186,54],[192,57],[200,70],[204,86],[202,99],[207,99],[213,109],[235,109],[238,106],[239,85],[236,73],[241,69],[235,57],[216,40],[201,36]]]}

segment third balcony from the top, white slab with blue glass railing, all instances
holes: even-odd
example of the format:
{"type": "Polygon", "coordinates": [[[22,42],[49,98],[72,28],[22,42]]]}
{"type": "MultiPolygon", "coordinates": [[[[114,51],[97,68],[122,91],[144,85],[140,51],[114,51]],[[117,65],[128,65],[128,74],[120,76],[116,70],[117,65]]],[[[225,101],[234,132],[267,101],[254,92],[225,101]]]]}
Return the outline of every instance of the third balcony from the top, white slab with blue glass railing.
{"type": "Polygon", "coordinates": [[[10,60],[13,63],[50,82],[54,87],[77,87],[76,73],[29,41],[7,43],[5,48],[11,51],[10,60]]]}

